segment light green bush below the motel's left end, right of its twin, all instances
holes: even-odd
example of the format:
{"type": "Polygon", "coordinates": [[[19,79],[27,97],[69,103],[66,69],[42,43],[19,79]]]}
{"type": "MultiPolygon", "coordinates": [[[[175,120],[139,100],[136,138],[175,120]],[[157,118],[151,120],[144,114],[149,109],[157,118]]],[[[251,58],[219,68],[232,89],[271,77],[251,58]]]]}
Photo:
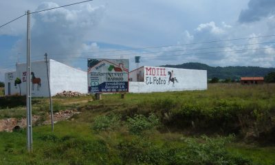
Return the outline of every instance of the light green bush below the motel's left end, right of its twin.
{"type": "Polygon", "coordinates": [[[142,131],[151,130],[158,125],[159,119],[153,113],[151,113],[148,118],[144,115],[135,115],[133,118],[128,118],[126,121],[129,132],[135,135],[140,135],[142,131]]]}

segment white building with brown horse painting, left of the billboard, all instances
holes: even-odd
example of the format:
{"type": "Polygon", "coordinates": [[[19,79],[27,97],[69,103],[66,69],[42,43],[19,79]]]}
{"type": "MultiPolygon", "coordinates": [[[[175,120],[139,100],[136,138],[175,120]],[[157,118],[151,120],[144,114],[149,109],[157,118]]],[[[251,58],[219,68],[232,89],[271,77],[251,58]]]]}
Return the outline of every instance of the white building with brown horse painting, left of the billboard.
{"type": "MultiPolygon", "coordinates": [[[[32,67],[32,96],[47,97],[49,96],[47,84],[47,68],[45,61],[36,61],[31,64],[32,67]]],[[[87,72],[52,59],[48,63],[50,88],[52,96],[62,91],[78,91],[87,93],[87,72]]],[[[25,95],[27,92],[27,67],[25,63],[17,63],[15,72],[5,73],[5,95],[20,94],[25,95]],[[19,78],[21,84],[15,83],[19,78]]]]}

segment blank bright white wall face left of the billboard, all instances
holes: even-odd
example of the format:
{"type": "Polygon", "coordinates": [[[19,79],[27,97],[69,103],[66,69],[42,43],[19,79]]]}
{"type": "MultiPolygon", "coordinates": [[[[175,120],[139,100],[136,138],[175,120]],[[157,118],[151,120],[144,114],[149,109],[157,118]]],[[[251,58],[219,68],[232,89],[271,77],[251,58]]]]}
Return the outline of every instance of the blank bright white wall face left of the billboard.
{"type": "Polygon", "coordinates": [[[87,72],[50,60],[50,85],[53,96],[62,91],[87,94],[87,72]]]}

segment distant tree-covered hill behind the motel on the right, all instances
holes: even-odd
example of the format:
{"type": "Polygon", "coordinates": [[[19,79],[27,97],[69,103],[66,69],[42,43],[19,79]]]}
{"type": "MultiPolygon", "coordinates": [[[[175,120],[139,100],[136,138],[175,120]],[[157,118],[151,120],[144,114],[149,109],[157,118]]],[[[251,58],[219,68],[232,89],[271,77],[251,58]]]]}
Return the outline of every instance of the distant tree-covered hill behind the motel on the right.
{"type": "Polygon", "coordinates": [[[264,77],[270,72],[275,72],[274,67],[210,67],[203,63],[183,63],[180,65],[162,65],[162,67],[175,67],[183,69],[201,69],[207,70],[207,77],[219,79],[232,78],[239,79],[240,77],[264,77]]]}

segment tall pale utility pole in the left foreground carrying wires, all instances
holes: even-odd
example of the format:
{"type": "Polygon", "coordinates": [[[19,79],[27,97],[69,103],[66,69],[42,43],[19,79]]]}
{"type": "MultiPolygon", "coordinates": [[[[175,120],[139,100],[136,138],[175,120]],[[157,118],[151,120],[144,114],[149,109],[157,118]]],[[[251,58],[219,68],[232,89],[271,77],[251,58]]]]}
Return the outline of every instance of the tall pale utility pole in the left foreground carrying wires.
{"type": "Polygon", "coordinates": [[[30,83],[30,10],[27,12],[27,148],[29,152],[32,152],[32,92],[30,83]]]}

